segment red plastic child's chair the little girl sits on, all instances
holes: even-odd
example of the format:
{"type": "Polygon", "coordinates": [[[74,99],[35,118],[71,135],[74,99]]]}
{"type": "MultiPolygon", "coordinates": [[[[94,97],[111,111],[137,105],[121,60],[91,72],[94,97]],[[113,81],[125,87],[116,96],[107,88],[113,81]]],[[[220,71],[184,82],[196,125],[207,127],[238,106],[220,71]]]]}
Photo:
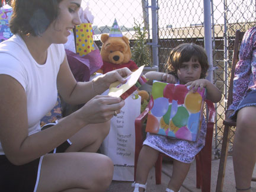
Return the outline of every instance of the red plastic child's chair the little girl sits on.
{"type": "MultiPolygon", "coordinates": [[[[212,169],[212,137],[213,125],[215,123],[215,107],[212,101],[206,100],[206,107],[208,109],[207,117],[207,132],[206,143],[204,148],[196,155],[196,187],[201,188],[201,191],[210,191],[211,169],[212,169]]],[[[148,117],[149,108],[147,107],[142,114],[135,120],[135,176],[137,160],[139,152],[143,143],[143,122],[148,117]]],[[[158,160],[155,163],[155,178],[156,184],[161,184],[161,171],[162,171],[162,157],[164,154],[160,153],[158,160]]]]}

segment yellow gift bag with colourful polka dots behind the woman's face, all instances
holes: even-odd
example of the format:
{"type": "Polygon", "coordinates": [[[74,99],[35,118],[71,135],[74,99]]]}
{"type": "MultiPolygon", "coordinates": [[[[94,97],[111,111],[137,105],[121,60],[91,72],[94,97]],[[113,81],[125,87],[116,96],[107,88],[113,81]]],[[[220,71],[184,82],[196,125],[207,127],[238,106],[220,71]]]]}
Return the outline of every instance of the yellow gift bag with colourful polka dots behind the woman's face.
{"type": "Polygon", "coordinates": [[[76,26],[76,53],[84,56],[94,49],[92,24],[82,23],[76,26]]]}

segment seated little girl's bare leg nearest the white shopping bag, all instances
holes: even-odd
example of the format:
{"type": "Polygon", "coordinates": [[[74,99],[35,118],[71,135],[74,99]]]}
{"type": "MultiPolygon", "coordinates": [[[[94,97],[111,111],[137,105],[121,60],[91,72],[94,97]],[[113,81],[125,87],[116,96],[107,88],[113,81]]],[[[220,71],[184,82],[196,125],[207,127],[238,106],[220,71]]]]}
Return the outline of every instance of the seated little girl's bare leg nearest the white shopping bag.
{"type": "MultiPolygon", "coordinates": [[[[155,149],[143,145],[139,153],[139,159],[137,161],[136,168],[136,180],[135,183],[145,184],[148,180],[148,174],[158,158],[159,152],[155,149]]],[[[143,188],[139,188],[139,191],[144,191],[143,188]]]]}

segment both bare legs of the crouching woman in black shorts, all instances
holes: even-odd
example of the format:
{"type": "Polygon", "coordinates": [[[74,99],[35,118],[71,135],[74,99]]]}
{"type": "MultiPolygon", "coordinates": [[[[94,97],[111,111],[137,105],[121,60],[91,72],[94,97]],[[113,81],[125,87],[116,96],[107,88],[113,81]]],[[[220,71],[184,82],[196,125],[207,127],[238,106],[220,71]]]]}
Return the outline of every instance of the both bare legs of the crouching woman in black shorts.
{"type": "Polygon", "coordinates": [[[113,162],[95,152],[109,130],[110,121],[89,124],[69,139],[72,145],[65,153],[44,156],[37,191],[105,191],[113,179],[113,162]]]}

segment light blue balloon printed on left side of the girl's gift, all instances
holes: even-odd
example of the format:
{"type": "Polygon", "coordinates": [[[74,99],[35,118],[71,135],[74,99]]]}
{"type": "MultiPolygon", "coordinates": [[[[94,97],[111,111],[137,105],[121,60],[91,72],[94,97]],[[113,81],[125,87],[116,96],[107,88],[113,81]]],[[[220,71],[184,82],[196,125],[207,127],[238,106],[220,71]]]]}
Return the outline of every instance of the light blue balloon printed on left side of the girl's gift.
{"type": "Polygon", "coordinates": [[[156,117],[162,117],[167,113],[169,107],[169,101],[167,98],[159,97],[154,100],[154,104],[151,113],[156,117]]]}

